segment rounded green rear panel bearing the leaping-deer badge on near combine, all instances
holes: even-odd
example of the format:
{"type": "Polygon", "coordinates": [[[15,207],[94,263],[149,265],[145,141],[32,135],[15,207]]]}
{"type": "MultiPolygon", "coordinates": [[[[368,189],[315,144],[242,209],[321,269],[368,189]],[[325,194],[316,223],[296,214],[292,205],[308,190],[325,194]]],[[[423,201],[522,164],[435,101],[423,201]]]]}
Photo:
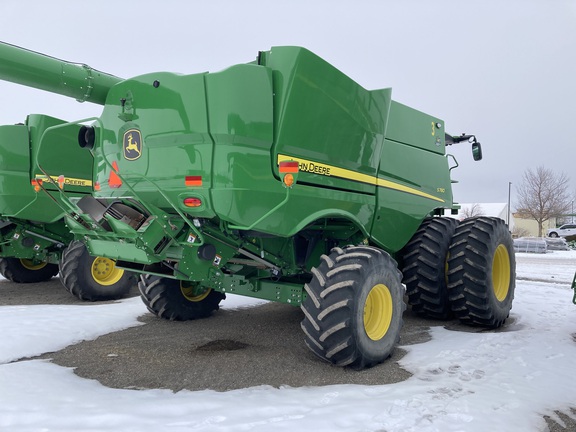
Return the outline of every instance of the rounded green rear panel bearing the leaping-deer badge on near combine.
{"type": "Polygon", "coordinates": [[[132,195],[130,186],[142,201],[174,212],[162,194],[181,207],[182,200],[193,195],[203,202],[195,214],[214,216],[209,202],[213,141],[204,76],[159,72],[112,88],[94,153],[98,196],[132,195]],[[131,131],[141,136],[138,151],[126,150],[131,131]],[[126,183],[119,188],[108,184],[113,163],[126,183]],[[201,177],[201,184],[187,186],[189,176],[201,177]]]}

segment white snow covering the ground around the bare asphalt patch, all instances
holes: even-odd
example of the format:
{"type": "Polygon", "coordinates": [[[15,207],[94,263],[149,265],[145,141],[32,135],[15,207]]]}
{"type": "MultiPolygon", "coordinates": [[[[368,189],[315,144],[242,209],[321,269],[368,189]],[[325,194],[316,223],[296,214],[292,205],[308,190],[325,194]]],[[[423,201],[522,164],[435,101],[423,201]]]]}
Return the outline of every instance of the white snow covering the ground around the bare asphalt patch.
{"type": "MultiPolygon", "coordinates": [[[[576,252],[517,254],[510,324],[467,333],[432,327],[405,347],[410,379],[380,386],[228,392],[117,390],[72,369],[23,358],[139,325],[138,299],[0,307],[0,430],[7,431],[540,431],[542,415],[576,405],[576,252]],[[537,275],[538,280],[530,281],[537,275]],[[554,276],[554,278],[552,278],[554,276]],[[98,325],[95,325],[98,320],[98,325]],[[9,363],[11,362],[11,363],[9,363]]],[[[258,301],[233,298],[223,307],[258,301]]]]}

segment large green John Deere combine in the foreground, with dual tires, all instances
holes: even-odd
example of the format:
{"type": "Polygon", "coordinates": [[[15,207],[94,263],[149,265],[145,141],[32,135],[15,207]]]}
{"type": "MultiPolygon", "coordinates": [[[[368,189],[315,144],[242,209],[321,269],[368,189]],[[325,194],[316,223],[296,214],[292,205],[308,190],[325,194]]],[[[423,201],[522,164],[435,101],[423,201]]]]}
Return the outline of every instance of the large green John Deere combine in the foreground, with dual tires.
{"type": "Polygon", "coordinates": [[[318,357],[357,369],[391,355],[405,294],[427,317],[490,328],[508,317],[507,226],[444,217],[458,208],[446,147],[470,142],[479,159],[479,143],[391,89],[366,90],[299,47],[119,81],[87,66],[69,81],[66,62],[44,75],[40,62],[55,59],[8,45],[0,58],[1,79],[104,103],[98,118],[35,137],[26,180],[91,255],[140,274],[157,316],[207,317],[226,293],[288,303],[318,357]],[[93,161],[84,174],[68,173],[56,144],[74,128],[74,154],[93,161]],[[92,186],[78,193],[69,175],[92,186]]]}

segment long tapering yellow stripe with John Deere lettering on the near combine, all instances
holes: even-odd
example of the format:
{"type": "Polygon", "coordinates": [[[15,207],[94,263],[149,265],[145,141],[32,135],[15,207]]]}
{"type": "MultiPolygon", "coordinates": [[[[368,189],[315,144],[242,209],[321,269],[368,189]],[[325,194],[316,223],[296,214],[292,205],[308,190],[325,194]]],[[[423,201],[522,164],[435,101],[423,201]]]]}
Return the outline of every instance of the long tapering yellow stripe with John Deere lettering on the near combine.
{"type": "Polygon", "coordinates": [[[335,167],[332,165],[326,165],[323,163],[313,162],[313,161],[306,160],[306,159],[286,156],[286,155],[282,155],[282,154],[278,155],[278,164],[280,164],[280,162],[286,161],[286,160],[297,161],[301,172],[319,174],[319,175],[324,175],[324,176],[328,176],[328,177],[338,177],[338,178],[342,178],[342,179],[346,179],[346,180],[354,180],[354,181],[357,181],[360,183],[366,183],[366,184],[370,184],[370,185],[374,185],[374,186],[383,187],[386,189],[396,190],[399,192],[406,192],[406,193],[409,193],[411,195],[417,195],[417,196],[421,196],[423,198],[428,198],[428,199],[431,199],[434,201],[444,202],[444,200],[442,198],[438,198],[434,195],[430,195],[426,192],[422,192],[421,190],[414,189],[414,188],[411,188],[409,186],[404,186],[404,185],[401,185],[399,183],[394,183],[394,182],[391,182],[389,180],[384,180],[384,179],[374,177],[371,175],[361,174],[361,173],[358,173],[356,171],[352,171],[352,170],[348,170],[348,169],[344,169],[344,168],[338,168],[338,167],[335,167]]]}

